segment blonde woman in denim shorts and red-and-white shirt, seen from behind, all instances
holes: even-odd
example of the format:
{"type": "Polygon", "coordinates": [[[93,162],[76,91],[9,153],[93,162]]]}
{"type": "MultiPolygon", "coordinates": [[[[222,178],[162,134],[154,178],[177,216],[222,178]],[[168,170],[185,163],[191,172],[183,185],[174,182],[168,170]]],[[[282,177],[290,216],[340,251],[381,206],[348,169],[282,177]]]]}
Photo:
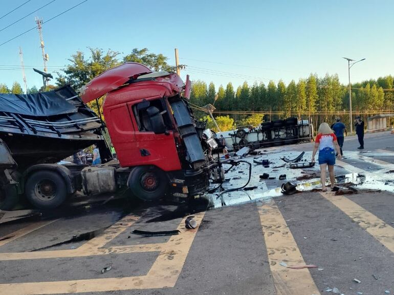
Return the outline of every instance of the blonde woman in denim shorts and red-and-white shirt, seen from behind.
{"type": "Polygon", "coordinates": [[[315,155],[317,149],[319,149],[319,165],[320,165],[320,180],[322,191],[327,191],[325,188],[325,170],[329,167],[331,187],[334,187],[335,176],[334,176],[334,165],[335,165],[335,150],[338,153],[338,160],[342,159],[341,150],[337,142],[337,137],[331,130],[327,123],[322,123],[319,126],[319,131],[317,132],[315,147],[312,154],[312,162],[315,162],[315,155]]]}

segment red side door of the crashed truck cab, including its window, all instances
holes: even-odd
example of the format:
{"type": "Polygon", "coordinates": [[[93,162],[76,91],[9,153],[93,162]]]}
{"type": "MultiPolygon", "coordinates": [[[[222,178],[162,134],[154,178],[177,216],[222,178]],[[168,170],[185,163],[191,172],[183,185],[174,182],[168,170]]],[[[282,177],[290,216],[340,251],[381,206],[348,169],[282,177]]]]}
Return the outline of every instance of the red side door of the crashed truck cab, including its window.
{"type": "MultiPolygon", "coordinates": [[[[181,169],[177,147],[175,144],[169,110],[163,99],[142,101],[129,105],[130,115],[135,128],[135,142],[130,154],[130,163],[137,165],[155,165],[164,171],[181,169]],[[149,108],[155,107],[163,117],[165,128],[155,134],[149,114],[149,108]]],[[[132,166],[130,165],[130,166],[132,166]]]]}

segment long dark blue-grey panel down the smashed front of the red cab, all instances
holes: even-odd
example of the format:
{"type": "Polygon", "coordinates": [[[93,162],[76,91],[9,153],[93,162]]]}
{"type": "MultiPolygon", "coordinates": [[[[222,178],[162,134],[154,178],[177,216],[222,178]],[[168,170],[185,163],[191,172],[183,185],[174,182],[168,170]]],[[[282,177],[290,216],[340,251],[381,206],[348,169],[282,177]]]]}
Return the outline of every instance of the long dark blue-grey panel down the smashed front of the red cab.
{"type": "Polygon", "coordinates": [[[177,121],[179,134],[185,143],[187,160],[194,167],[199,167],[205,163],[205,156],[187,106],[183,100],[174,100],[170,102],[170,105],[177,121]]]}

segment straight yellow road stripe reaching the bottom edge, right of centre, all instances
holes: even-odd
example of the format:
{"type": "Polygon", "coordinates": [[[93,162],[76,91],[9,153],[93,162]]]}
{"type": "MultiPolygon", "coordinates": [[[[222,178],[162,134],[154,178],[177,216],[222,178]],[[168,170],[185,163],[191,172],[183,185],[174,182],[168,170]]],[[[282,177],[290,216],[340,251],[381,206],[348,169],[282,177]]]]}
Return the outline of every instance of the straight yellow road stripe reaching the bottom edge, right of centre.
{"type": "Polygon", "coordinates": [[[258,207],[258,211],[276,295],[320,294],[308,268],[292,269],[279,264],[281,261],[288,265],[305,264],[279,208],[271,202],[258,207]]]}

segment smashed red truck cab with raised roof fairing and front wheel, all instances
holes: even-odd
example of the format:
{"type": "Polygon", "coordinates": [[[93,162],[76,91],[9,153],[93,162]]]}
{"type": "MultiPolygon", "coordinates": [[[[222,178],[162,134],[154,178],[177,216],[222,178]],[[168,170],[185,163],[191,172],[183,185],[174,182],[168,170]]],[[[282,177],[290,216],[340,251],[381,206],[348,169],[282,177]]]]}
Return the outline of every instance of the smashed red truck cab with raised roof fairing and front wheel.
{"type": "Polygon", "coordinates": [[[152,72],[127,62],[103,72],[81,89],[84,103],[106,95],[103,115],[128,186],[144,200],[169,188],[195,195],[209,185],[209,165],[184,86],[176,73],[152,72]]]}

